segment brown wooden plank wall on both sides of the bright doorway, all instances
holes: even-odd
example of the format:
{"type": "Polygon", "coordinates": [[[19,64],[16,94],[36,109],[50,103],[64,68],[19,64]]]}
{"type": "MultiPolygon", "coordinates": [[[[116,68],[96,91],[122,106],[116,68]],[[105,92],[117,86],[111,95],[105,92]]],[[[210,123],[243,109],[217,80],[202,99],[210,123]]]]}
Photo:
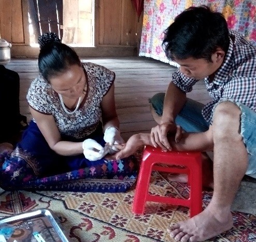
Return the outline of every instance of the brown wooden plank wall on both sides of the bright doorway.
{"type": "MultiPolygon", "coordinates": [[[[11,42],[11,56],[38,56],[30,47],[27,0],[0,0],[0,35],[11,42]]],[[[87,56],[136,56],[143,15],[139,22],[131,0],[95,0],[95,46],[79,47],[87,56]],[[100,55],[99,55],[100,53],[100,55]]],[[[76,48],[77,51],[77,48],[76,48]]]]}

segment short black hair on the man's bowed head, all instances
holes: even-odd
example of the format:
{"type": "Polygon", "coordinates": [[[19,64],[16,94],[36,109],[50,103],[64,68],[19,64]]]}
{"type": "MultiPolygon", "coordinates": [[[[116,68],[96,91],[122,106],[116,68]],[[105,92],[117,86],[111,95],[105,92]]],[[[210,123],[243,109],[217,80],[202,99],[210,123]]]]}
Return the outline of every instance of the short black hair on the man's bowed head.
{"type": "Polygon", "coordinates": [[[190,7],[165,30],[163,49],[170,60],[206,59],[220,47],[229,49],[229,30],[220,12],[207,6],[190,7]]]}

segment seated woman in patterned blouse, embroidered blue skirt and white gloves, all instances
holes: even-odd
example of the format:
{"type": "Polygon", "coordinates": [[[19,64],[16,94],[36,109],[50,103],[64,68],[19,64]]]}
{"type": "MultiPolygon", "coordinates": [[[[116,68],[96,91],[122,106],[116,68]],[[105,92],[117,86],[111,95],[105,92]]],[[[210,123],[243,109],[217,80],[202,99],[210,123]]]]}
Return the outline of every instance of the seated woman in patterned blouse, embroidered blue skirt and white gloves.
{"type": "Polygon", "coordinates": [[[137,174],[134,157],[104,159],[111,145],[123,143],[115,73],[81,63],[54,33],[40,36],[39,45],[41,75],[27,93],[33,120],[16,149],[2,157],[2,188],[126,191],[137,174]]]}

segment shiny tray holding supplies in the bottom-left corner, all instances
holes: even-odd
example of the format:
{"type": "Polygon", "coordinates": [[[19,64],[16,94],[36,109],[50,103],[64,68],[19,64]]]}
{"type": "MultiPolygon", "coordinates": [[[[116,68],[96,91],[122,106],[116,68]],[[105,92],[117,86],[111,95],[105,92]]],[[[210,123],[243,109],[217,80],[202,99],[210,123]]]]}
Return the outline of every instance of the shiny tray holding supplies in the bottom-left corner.
{"type": "Polygon", "coordinates": [[[0,234],[8,242],[68,242],[59,219],[50,209],[31,212],[0,220],[0,234]]]}

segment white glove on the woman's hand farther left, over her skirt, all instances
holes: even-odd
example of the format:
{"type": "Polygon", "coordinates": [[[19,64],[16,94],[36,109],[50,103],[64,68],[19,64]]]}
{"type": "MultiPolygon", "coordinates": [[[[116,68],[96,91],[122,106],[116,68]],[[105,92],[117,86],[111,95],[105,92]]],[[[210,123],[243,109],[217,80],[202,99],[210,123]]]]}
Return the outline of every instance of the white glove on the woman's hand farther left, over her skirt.
{"type": "Polygon", "coordinates": [[[89,161],[102,159],[108,153],[108,148],[102,147],[94,139],[84,140],[82,148],[84,157],[89,161]]]}

